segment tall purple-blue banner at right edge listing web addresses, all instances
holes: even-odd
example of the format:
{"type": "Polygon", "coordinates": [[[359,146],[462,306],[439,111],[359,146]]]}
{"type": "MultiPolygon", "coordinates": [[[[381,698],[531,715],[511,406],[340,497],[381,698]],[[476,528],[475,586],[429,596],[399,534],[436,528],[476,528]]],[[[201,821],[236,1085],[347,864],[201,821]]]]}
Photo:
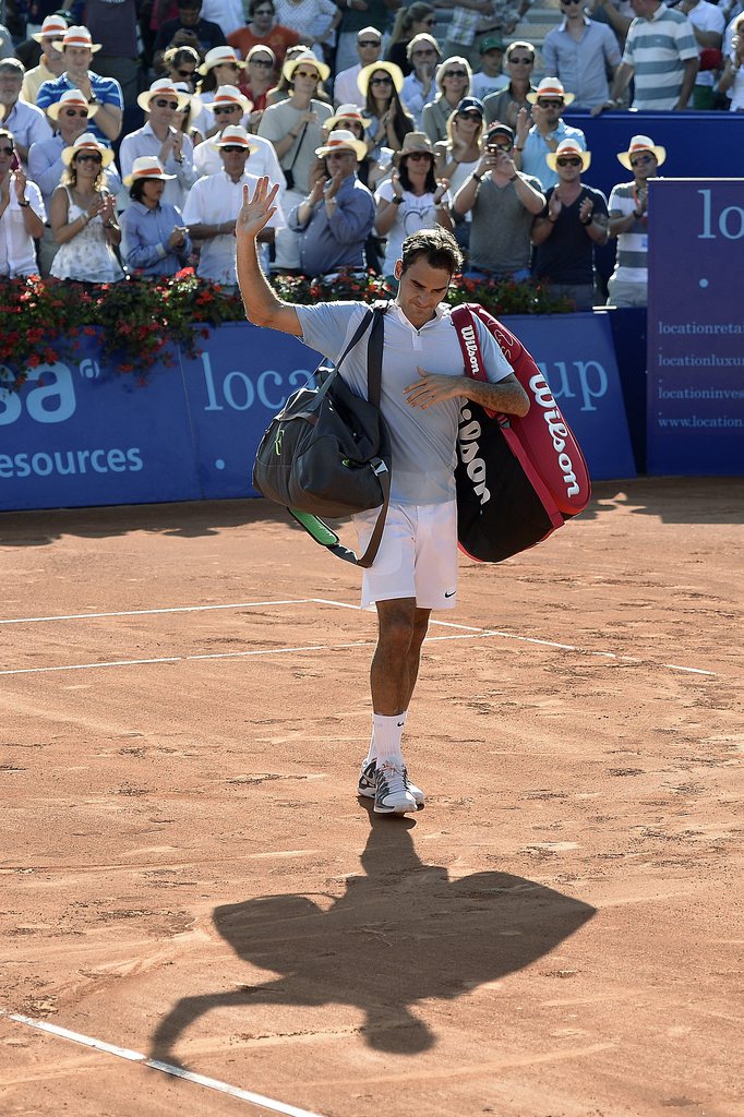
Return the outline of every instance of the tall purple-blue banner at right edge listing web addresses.
{"type": "Polygon", "coordinates": [[[648,471],[744,472],[744,179],[649,191],[648,471]]]}

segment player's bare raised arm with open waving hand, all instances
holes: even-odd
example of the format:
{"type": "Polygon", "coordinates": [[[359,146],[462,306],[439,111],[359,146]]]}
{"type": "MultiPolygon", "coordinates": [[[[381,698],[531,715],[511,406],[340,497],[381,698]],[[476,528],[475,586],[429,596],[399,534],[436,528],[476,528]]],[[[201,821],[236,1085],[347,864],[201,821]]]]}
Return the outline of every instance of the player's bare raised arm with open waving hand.
{"type": "Polygon", "coordinates": [[[269,189],[268,178],[256,183],[254,197],[242,188],[242,207],[235,227],[238,284],[246,317],[256,326],[268,326],[301,337],[303,330],[294,306],[278,299],[260,269],[256,242],[277,211],[274,204],[279,187],[269,189]]]}

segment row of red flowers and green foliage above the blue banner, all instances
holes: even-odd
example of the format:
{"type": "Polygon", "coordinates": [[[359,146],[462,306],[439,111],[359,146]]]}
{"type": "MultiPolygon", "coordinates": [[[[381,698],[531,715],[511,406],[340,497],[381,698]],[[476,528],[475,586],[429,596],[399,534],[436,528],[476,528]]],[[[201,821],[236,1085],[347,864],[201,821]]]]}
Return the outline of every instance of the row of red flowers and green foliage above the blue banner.
{"type": "MultiPolygon", "coordinates": [[[[270,283],[286,303],[391,298],[378,276],[357,274],[308,279],[276,275],[270,283]]],[[[536,283],[484,283],[456,276],[447,294],[451,306],[480,303],[492,314],[556,314],[571,311],[536,283]]],[[[192,268],[162,279],[127,278],[117,284],[73,284],[57,279],[13,279],[0,293],[0,364],[10,370],[3,386],[18,390],[27,370],[74,359],[79,337],[99,333],[102,357],[118,373],[144,381],[155,364],[172,364],[169,345],[197,355],[209,326],[244,322],[240,297],[199,279],[192,268]]]]}

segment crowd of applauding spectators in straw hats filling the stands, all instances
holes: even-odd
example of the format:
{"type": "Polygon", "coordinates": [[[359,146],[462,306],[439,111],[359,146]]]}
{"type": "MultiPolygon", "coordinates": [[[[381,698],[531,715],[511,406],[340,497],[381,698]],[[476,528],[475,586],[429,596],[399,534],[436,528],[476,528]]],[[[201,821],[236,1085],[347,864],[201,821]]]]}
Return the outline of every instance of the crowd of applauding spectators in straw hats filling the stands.
{"type": "Polygon", "coordinates": [[[404,238],[441,225],[466,275],[536,277],[586,309],[617,239],[601,297],[642,306],[667,153],[628,135],[608,199],[563,114],[586,111],[591,136],[617,108],[744,112],[743,2],[560,0],[537,82],[513,37],[530,0],[6,0],[0,277],[192,262],[230,287],[244,187],[267,175],[267,273],[394,284],[404,238]]]}

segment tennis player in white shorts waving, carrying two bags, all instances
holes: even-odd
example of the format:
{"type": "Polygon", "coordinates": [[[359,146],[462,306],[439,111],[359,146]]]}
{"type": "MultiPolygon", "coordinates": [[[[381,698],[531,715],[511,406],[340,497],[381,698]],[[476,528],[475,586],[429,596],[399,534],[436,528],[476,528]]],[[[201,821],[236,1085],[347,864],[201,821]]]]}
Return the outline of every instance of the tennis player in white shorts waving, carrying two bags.
{"type": "MultiPolygon", "coordinates": [[[[246,191],[238,218],[238,277],[246,314],[259,326],[301,337],[337,361],[359,326],[359,303],[290,306],[282,303],[258,266],[256,238],[274,212],[276,192],[265,179],[246,191]]],[[[391,503],[378,556],[362,574],[362,604],[374,605],[379,637],[372,659],[372,739],[359,794],[379,814],[406,814],[423,804],[409,777],[401,737],[416,686],[421,645],[432,609],[451,609],[457,594],[457,513],[454,467],[460,407],[475,400],[494,411],[526,414],[527,397],[495,338],[474,318],[488,382],[465,375],[450,308],[443,304],[461,266],[455,238],[421,229],[403,241],[395,264],[399,287],[383,318],[381,411],[392,445],[391,503]]],[[[366,344],[341,366],[357,395],[366,395],[366,344]]],[[[374,513],[354,517],[366,545],[374,513]]]]}

